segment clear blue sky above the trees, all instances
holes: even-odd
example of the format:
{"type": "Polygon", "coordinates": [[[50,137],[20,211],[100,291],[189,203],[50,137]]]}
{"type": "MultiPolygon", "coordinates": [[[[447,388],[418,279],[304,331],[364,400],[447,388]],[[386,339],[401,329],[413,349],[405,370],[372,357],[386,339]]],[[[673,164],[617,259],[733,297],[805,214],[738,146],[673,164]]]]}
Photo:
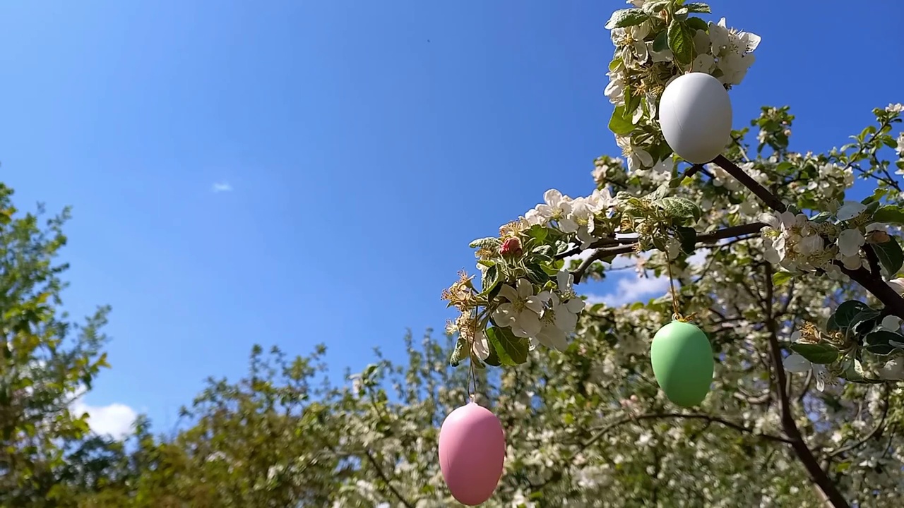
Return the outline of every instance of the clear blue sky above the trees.
{"type": "MultiPolygon", "coordinates": [[[[763,37],[736,127],[788,104],[792,147],[821,151],[904,100],[904,4],[828,4],[711,3],[763,37]]],[[[0,5],[0,178],[20,208],[73,205],[67,306],[113,306],[89,403],[163,429],[253,343],[327,343],[341,372],[441,329],[469,240],[548,188],[589,193],[617,155],[603,25],[622,6],[0,5]]]]}

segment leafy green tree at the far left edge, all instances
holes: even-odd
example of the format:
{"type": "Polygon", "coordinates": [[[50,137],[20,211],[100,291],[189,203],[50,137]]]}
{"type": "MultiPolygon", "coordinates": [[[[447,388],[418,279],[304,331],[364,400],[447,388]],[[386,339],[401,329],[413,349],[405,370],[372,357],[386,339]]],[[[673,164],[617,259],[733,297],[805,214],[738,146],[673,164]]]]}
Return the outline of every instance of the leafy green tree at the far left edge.
{"type": "Polygon", "coordinates": [[[83,325],[61,312],[61,274],[56,262],[66,243],[69,211],[42,220],[20,214],[13,191],[0,183],[0,505],[57,506],[70,498],[80,446],[89,428],[71,402],[101,367],[100,328],[108,308],[83,325]]]}

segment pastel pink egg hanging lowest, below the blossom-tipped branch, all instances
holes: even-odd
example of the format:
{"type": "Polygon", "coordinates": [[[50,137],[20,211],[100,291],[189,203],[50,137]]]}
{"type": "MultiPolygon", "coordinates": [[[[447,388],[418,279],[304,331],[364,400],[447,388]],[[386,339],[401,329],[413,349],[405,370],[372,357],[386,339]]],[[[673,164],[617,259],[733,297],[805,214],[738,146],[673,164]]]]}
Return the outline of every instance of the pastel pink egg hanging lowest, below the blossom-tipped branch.
{"type": "Polygon", "coordinates": [[[476,506],[503,475],[505,433],[499,419],[476,402],[458,408],[439,428],[439,469],[458,503],[476,506]]]}

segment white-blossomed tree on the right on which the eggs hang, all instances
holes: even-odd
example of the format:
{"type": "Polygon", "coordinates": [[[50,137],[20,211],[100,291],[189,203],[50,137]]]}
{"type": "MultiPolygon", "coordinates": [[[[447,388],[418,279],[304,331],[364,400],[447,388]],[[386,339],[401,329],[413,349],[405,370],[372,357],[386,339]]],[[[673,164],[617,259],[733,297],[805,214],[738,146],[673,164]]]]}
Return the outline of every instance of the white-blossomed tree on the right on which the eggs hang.
{"type": "MultiPolygon", "coordinates": [[[[497,237],[471,244],[479,284],[463,272],[443,294],[461,311],[449,326],[451,363],[517,369],[538,349],[554,358],[586,349],[614,356],[608,382],[629,381],[631,400],[650,379],[649,338],[680,307],[708,332],[719,361],[706,415],[746,404],[722,425],[782,443],[834,506],[897,495],[862,475],[878,468],[891,491],[901,486],[889,426],[904,394],[894,382],[904,378],[904,134],[893,132],[904,107],[875,109],[875,125],[823,155],[790,151],[789,109],[763,108],[751,124],[756,146],[744,128],[711,163],[684,163],[657,119],[664,89],[691,71],[726,89],[741,84],[760,39],[724,19],[705,22],[701,3],[628,3],[607,24],[616,46],[609,128],[625,158],[597,160],[588,196],[548,191],[497,237]],[[862,201],[847,199],[857,179],[875,187],[862,201]],[[603,277],[619,256],[674,278],[674,301],[587,308],[574,285],[603,277]],[[588,349],[591,336],[609,347],[588,349]],[[826,426],[824,440],[817,430],[826,426]]],[[[642,405],[663,406],[648,395],[642,405]]],[[[598,410],[611,418],[611,408],[598,410]]]]}

